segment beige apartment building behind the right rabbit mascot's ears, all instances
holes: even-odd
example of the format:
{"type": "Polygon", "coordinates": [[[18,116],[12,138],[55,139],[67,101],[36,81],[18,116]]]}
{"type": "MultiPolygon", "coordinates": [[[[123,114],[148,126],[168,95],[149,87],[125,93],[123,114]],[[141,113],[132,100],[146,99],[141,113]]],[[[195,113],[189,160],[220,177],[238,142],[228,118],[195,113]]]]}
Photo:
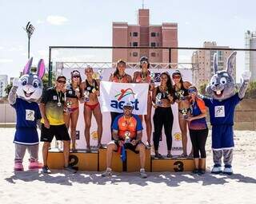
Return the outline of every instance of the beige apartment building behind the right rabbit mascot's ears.
{"type": "MultiPolygon", "coordinates": [[[[230,48],[228,46],[218,46],[215,41],[205,41],[204,48],[214,48],[216,50],[197,50],[193,53],[191,62],[193,65],[193,83],[196,86],[208,83],[214,74],[214,53],[218,55],[218,70],[226,69],[226,61],[232,51],[218,50],[218,48],[230,48]]],[[[236,63],[234,65],[234,81],[236,75],[236,63]]]]}

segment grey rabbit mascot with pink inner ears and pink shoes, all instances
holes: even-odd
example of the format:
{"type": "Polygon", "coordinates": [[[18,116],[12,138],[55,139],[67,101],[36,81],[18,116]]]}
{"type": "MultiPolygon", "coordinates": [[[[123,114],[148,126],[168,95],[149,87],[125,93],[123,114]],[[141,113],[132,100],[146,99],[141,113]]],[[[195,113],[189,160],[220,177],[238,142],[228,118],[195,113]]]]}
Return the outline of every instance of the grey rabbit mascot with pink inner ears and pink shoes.
{"type": "Polygon", "coordinates": [[[23,171],[23,157],[26,149],[30,154],[29,169],[38,169],[38,131],[37,124],[41,119],[38,100],[42,96],[42,77],[45,73],[44,61],[38,62],[37,73],[30,73],[33,58],[27,62],[23,75],[13,80],[8,100],[15,109],[17,116],[16,131],[14,135],[15,159],[14,171],[23,171]]]}

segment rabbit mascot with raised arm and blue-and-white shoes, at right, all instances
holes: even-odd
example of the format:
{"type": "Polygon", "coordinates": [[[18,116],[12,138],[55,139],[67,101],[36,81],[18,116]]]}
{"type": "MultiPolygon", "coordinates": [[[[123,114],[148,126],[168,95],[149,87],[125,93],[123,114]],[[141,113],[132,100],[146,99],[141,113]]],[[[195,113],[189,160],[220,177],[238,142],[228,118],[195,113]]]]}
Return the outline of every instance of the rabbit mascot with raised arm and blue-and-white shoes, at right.
{"type": "Polygon", "coordinates": [[[245,96],[249,85],[250,72],[242,73],[242,85],[235,92],[235,82],[232,77],[236,52],[228,58],[226,70],[218,71],[217,54],[214,54],[214,76],[210,84],[206,86],[206,92],[210,98],[203,97],[210,112],[210,124],[212,125],[212,149],[214,167],[212,173],[232,175],[232,159],[234,148],[234,109],[245,96]],[[224,170],[222,171],[222,157],[224,170]]]}

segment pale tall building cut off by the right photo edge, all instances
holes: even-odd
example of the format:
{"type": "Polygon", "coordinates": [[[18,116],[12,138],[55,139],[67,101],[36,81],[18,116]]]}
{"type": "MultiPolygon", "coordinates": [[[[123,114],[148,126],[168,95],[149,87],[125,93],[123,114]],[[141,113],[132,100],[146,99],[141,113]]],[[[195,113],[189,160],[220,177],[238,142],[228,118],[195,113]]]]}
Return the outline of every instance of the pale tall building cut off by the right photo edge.
{"type": "MultiPolygon", "coordinates": [[[[256,49],[256,31],[245,33],[245,47],[246,49],[256,49]]],[[[256,51],[246,51],[246,70],[250,70],[250,80],[256,80],[256,51]]]]}

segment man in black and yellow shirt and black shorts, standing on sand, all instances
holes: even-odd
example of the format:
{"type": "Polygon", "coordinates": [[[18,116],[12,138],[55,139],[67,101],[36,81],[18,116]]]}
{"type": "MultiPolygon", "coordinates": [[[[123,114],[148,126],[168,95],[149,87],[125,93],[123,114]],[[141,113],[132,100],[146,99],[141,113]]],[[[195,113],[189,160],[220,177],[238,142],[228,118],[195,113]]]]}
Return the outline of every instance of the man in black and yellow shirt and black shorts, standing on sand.
{"type": "Polygon", "coordinates": [[[50,143],[54,136],[57,140],[61,140],[64,144],[64,170],[75,173],[76,171],[69,165],[70,155],[70,135],[67,131],[64,119],[64,103],[66,77],[58,76],[54,87],[48,88],[42,94],[42,100],[39,104],[42,115],[41,142],[43,167],[42,172],[50,174],[51,171],[47,166],[47,157],[50,143]]]}

